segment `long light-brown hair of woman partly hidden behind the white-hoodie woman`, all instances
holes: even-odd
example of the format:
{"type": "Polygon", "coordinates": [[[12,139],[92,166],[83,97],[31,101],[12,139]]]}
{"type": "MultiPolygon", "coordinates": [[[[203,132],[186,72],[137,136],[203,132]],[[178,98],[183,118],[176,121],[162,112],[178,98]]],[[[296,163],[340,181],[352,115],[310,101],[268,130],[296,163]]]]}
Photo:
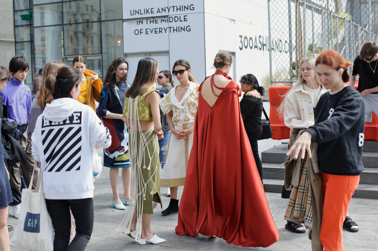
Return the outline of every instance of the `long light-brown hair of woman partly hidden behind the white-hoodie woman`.
{"type": "Polygon", "coordinates": [[[58,61],[50,61],[46,64],[45,68],[43,68],[43,77],[39,87],[39,92],[37,93],[36,100],[37,104],[41,109],[45,109],[46,104],[50,104],[53,101],[53,91],[54,87],[46,85],[46,79],[51,74],[55,74],[56,70],[60,66],[64,66],[65,64],[58,61]]]}

